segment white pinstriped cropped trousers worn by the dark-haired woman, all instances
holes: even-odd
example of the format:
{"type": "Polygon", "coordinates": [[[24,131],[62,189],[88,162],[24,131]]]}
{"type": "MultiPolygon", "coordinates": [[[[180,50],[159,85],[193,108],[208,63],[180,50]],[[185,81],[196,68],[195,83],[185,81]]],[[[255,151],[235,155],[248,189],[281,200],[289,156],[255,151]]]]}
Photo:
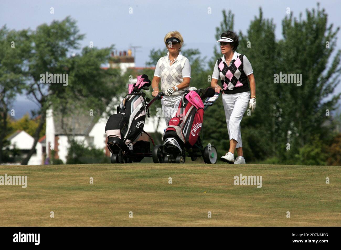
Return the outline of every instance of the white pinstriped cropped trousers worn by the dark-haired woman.
{"type": "Polygon", "coordinates": [[[241,143],[240,122],[248,108],[250,95],[250,91],[222,95],[228,136],[230,140],[235,139],[237,141],[236,148],[243,146],[241,143]]]}

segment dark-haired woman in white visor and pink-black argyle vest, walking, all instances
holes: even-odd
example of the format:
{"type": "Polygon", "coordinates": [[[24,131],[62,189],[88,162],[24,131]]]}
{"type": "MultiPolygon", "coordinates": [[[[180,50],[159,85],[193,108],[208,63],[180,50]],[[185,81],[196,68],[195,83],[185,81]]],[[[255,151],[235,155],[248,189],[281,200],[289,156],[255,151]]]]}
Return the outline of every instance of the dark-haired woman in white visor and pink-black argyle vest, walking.
{"type": "Polygon", "coordinates": [[[220,43],[223,56],[214,66],[211,87],[218,93],[221,89],[223,90],[222,98],[230,141],[229,150],[221,157],[221,160],[230,164],[246,164],[243,156],[240,122],[248,104],[251,112],[256,107],[256,82],[251,63],[245,55],[236,51],[239,44],[238,36],[232,31],[227,31],[221,34],[217,43],[220,43]],[[221,79],[222,86],[218,84],[219,79],[221,79]],[[235,149],[238,154],[236,159],[234,158],[235,149]]]}

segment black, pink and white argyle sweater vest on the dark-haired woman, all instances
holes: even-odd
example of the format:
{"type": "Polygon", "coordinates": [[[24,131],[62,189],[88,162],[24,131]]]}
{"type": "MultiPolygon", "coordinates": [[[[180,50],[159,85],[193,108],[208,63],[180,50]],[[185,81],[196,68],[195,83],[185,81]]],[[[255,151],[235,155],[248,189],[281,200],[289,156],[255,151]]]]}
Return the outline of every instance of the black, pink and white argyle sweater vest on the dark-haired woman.
{"type": "Polygon", "coordinates": [[[248,78],[243,70],[243,56],[240,54],[228,67],[221,58],[218,59],[218,70],[225,94],[237,94],[250,91],[248,78]]]}

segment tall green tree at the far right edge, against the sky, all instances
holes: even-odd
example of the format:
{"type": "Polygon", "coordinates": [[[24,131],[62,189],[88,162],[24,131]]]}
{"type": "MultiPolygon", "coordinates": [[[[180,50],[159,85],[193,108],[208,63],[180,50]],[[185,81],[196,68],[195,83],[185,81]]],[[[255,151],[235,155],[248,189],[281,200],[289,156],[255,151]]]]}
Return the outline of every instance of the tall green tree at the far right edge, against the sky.
{"type": "Polygon", "coordinates": [[[327,25],[325,10],[306,10],[306,19],[294,18],[293,14],[282,22],[283,39],[279,41],[280,70],[301,74],[301,85],[281,84],[278,96],[282,109],[282,131],[292,131],[291,140],[295,149],[312,143],[314,135],[325,138],[331,130],[323,128],[329,119],[326,111],[336,109],[340,93],[333,95],[340,80],[340,56],[336,47],[339,27],[327,25]],[[330,64],[329,61],[331,60],[330,64]],[[285,102],[284,102],[285,100],[285,102]]]}

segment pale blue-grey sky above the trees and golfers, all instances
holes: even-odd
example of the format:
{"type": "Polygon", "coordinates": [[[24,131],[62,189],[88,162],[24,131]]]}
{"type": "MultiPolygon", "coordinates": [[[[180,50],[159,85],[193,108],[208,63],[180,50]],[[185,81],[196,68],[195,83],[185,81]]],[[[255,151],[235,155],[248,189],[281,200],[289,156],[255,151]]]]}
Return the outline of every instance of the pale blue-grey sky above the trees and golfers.
{"type": "MultiPolygon", "coordinates": [[[[120,0],[1,0],[0,26],[9,29],[35,29],[42,23],[62,20],[71,16],[77,21],[80,33],[86,34],[81,47],[89,46],[90,41],[98,48],[112,44],[118,51],[137,49],[136,66],[143,67],[148,61],[152,48],[163,48],[165,34],[178,30],[184,38],[185,48],[198,49],[202,56],[210,58],[213,54],[215,28],[222,20],[222,10],[235,14],[234,29],[246,33],[251,20],[259,14],[262,7],[264,18],[273,19],[276,24],[276,38],[282,38],[282,19],[288,15],[287,8],[298,17],[305,10],[317,7],[318,1],[120,1],[120,0]],[[242,4],[241,4],[242,3],[242,4]],[[54,8],[54,14],[50,8],[54,8]],[[208,14],[211,8],[211,14],[208,14]],[[132,12],[132,13],[131,13],[132,12]]],[[[320,1],[320,8],[328,14],[328,23],[341,26],[341,1],[320,1]]],[[[337,49],[341,49],[340,32],[337,49]]],[[[341,92],[341,84],[336,92],[341,92]]],[[[15,105],[27,102],[25,96],[18,96],[15,105]]],[[[28,107],[27,107],[28,109],[28,107]]],[[[23,111],[24,113],[25,111],[23,111]]],[[[18,116],[17,116],[18,117],[18,116]]]]}

